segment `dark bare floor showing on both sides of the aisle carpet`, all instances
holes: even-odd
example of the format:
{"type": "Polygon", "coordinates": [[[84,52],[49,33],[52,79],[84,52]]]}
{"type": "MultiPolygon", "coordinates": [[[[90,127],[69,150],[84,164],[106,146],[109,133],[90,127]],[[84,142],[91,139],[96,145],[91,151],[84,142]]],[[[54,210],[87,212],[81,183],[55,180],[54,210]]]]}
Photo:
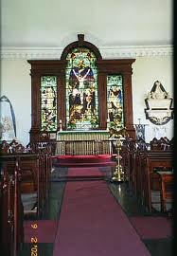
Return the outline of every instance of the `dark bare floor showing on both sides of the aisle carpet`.
{"type": "MultiPolygon", "coordinates": [[[[49,192],[49,205],[47,207],[43,219],[57,220],[60,217],[60,212],[62,208],[62,196],[64,192],[64,187],[66,182],[72,181],[62,181],[62,182],[51,182],[50,192],[49,192]]],[[[131,216],[145,216],[149,215],[147,211],[137,202],[136,198],[133,196],[133,192],[129,190],[127,183],[111,183],[107,178],[108,186],[113,192],[115,199],[119,202],[125,213],[131,216]]],[[[157,213],[153,212],[150,215],[155,215],[157,213]]],[[[159,213],[158,213],[159,215],[159,213]]],[[[143,240],[146,247],[150,250],[152,256],[171,256],[172,253],[172,239],[156,239],[156,240],[143,240]]],[[[39,252],[37,255],[52,256],[53,244],[38,244],[39,252]]],[[[24,244],[21,249],[19,256],[31,255],[31,245],[24,244]]]]}

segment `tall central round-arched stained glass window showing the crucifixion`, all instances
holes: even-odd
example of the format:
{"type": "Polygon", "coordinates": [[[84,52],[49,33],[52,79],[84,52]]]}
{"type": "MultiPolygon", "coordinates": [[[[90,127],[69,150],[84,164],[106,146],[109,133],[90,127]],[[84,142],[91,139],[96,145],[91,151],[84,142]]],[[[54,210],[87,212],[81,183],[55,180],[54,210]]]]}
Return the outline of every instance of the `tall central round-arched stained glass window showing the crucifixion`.
{"type": "Polygon", "coordinates": [[[66,60],[67,129],[97,128],[97,58],[90,49],[77,47],[66,60]]]}

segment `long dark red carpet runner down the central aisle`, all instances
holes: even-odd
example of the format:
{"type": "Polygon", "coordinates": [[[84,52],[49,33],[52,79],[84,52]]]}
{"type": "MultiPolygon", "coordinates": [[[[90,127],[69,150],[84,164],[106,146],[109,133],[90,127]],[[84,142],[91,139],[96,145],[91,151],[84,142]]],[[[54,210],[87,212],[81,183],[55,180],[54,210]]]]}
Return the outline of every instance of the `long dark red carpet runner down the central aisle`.
{"type": "Polygon", "coordinates": [[[53,256],[150,256],[105,181],[66,184],[53,256]]]}

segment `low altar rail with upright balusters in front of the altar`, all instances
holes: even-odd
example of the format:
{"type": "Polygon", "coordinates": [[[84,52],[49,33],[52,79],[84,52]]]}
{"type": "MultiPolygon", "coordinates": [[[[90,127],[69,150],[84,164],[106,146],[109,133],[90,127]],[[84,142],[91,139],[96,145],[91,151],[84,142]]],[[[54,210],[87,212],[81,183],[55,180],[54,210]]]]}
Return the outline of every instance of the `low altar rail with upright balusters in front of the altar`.
{"type": "Polygon", "coordinates": [[[106,140],[58,140],[56,155],[112,155],[113,139],[106,140]]]}

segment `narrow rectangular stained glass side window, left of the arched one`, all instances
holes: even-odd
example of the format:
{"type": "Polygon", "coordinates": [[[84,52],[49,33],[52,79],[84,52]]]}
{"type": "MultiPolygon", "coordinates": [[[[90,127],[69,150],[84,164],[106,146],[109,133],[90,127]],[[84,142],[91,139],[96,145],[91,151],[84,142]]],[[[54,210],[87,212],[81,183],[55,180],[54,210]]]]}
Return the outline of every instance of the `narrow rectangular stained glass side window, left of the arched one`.
{"type": "Polygon", "coordinates": [[[57,77],[41,77],[41,130],[57,130],[57,77]]]}

